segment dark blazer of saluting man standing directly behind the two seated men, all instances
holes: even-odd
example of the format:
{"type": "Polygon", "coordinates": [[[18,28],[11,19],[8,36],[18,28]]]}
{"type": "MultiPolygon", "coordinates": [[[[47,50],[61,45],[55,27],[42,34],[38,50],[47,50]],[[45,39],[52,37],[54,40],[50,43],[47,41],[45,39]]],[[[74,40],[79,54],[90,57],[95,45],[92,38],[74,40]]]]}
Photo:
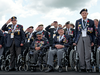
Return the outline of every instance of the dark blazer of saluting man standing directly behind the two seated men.
{"type": "Polygon", "coordinates": [[[56,33],[54,33],[54,31],[56,29],[55,28],[50,28],[50,27],[51,27],[51,25],[47,26],[45,28],[45,30],[50,33],[50,35],[49,35],[49,43],[50,43],[50,45],[52,45],[53,44],[53,34],[55,34],[55,35],[59,35],[59,34],[58,34],[58,31],[56,33]]]}

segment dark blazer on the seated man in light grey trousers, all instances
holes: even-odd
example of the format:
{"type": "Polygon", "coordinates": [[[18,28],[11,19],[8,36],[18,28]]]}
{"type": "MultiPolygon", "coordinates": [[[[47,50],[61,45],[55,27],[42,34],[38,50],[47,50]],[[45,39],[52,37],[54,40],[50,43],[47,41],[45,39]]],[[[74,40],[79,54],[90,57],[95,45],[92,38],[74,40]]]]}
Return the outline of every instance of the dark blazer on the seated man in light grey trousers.
{"type": "Polygon", "coordinates": [[[53,48],[56,48],[55,45],[57,44],[64,45],[64,50],[67,50],[68,46],[71,45],[71,37],[69,35],[64,35],[64,38],[59,42],[59,36],[55,36],[53,40],[53,48]]]}

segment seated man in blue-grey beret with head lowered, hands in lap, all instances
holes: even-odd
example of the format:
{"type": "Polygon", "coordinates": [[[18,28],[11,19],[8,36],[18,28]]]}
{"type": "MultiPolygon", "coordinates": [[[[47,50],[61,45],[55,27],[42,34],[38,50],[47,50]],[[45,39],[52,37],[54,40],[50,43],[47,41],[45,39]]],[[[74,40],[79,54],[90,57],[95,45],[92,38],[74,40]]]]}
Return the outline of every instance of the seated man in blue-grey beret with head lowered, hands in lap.
{"type": "MultiPolygon", "coordinates": [[[[30,54],[33,53],[32,63],[34,65],[37,64],[38,56],[41,55],[41,53],[43,53],[44,48],[47,48],[49,46],[48,39],[43,37],[42,32],[37,32],[36,35],[37,35],[37,38],[32,42],[31,44],[32,50],[30,52],[30,54]]],[[[39,61],[41,62],[41,60],[39,61]]]]}

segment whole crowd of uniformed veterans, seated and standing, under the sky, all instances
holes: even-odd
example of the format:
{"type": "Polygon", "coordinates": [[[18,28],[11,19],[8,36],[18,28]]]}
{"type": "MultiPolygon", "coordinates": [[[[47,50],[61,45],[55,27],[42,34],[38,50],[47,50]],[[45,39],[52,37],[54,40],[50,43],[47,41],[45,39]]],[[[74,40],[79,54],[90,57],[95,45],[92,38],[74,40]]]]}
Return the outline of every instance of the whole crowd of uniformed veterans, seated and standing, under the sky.
{"type": "Polygon", "coordinates": [[[91,72],[91,51],[95,43],[100,48],[99,21],[98,19],[87,18],[87,9],[82,9],[80,15],[82,18],[77,20],[75,25],[68,21],[62,26],[54,21],[45,30],[44,25],[40,24],[36,29],[30,26],[25,31],[22,25],[17,24],[17,17],[13,16],[0,30],[0,55],[5,55],[6,51],[10,50],[11,62],[9,66],[10,70],[14,70],[15,57],[17,58],[19,54],[22,54],[26,47],[30,47],[33,51],[30,52],[33,55],[33,64],[37,64],[40,51],[47,48],[48,69],[45,72],[54,70],[54,55],[57,55],[58,71],[62,72],[63,53],[67,52],[69,46],[76,46],[79,53],[80,70],[91,72]],[[10,22],[12,24],[9,24],[10,22]]]}

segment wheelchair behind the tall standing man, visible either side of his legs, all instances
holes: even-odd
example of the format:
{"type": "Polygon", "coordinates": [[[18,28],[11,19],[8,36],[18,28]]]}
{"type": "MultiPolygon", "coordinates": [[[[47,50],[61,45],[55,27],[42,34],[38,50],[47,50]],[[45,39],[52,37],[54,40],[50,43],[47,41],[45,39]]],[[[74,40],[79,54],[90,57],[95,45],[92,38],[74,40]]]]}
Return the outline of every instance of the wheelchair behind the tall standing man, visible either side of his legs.
{"type": "MultiPolygon", "coordinates": [[[[95,49],[94,49],[95,50],[95,49]]],[[[92,66],[92,72],[96,72],[96,61],[95,61],[95,51],[91,51],[91,66],[92,66]]],[[[76,50],[76,46],[73,50],[70,52],[70,66],[72,70],[79,71],[80,70],[80,63],[79,63],[79,54],[76,50]]]]}

